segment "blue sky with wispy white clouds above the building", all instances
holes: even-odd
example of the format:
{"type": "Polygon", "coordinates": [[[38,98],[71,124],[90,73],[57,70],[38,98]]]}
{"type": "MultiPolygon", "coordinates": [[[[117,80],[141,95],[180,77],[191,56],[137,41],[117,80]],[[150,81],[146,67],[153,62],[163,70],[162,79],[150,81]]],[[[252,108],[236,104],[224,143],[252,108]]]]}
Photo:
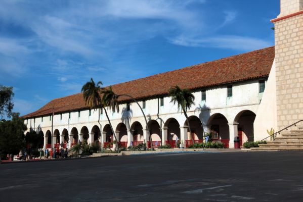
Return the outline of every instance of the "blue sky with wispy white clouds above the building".
{"type": "Polygon", "coordinates": [[[0,5],[0,84],[14,111],[274,45],[279,0],[17,1],[0,5]]]}

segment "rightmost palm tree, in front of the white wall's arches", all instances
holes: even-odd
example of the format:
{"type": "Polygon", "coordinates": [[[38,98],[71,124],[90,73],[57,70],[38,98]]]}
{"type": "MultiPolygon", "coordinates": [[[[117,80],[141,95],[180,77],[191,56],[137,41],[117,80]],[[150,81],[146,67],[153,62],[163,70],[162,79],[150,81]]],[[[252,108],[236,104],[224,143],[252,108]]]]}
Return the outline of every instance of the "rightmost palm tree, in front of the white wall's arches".
{"type": "Polygon", "coordinates": [[[188,129],[194,140],[195,138],[191,132],[186,111],[190,109],[191,106],[194,104],[195,96],[193,95],[193,93],[191,93],[189,89],[181,89],[178,85],[169,89],[169,96],[171,97],[170,103],[174,103],[174,105],[177,103],[178,108],[182,109],[184,116],[186,117],[188,129]]]}

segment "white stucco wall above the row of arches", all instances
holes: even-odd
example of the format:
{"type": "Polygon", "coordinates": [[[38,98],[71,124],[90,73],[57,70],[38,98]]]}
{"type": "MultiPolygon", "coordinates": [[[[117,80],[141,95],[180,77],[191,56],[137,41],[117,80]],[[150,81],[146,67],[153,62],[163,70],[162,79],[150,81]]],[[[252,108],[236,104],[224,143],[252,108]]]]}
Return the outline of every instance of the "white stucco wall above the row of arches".
{"type": "MultiPolygon", "coordinates": [[[[250,110],[257,114],[259,100],[262,97],[262,94],[260,95],[258,93],[259,80],[261,79],[233,84],[233,96],[230,98],[227,97],[227,85],[206,89],[206,102],[201,101],[201,91],[194,92],[195,105],[193,105],[187,112],[188,116],[197,116],[201,120],[204,130],[207,130],[207,122],[209,117],[216,113],[223,114],[228,120],[229,124],[233,124],[237,114],[243,110],[250,110]]],[[[271,90],[267,89],[267,85],[268,84],[266,84],[266,92],[270,93],[271,90]]],[[[142,102],[139,102],[139,104],[142,106],[142,102]]],[[[130,111],[126,111],[126,104],[122,104],[119,107],[119,113],[113,113],[109,110],[107,111],[114,130],[116,130],[117,125],[121,122],[126,125],[127,129],[129,129],[129,127],[135,121],[140,122],[144,129],[146,128],[146,123],[136,103],[131,103],[130,111]]],[[[144,112],[148,120],[157,120],[161,128],[164,127],[164,123],[169,118],[175,118],[180,127],[184,127],[184,123],[186,121],[184,114],[181,113],[178,107],[170,103],[170,97],[164,97],[164,106],[159,107],[159,118],[157,116],[157,98],[146,100],[146,109],[144,109],[144,112]]],[[[78,133],[80,133],[83,126],[88,127],[89,132],[91,133],[94,125],[97,125],[100,128],[100,124],[102,132],[103,127],[108,123],[105,112],[100,115],[100,124],[98,123],[99,111],[92,110],[91,116],[89,116],[89,110],[81,110],[80,117],[78,117],[78,111],[73,111],[71,112],[70,119],[68,119],[68,116],[69,113],[63,113],[62,120],[60,120],[60,114],[56,114],[54,116],[54,130],[58,129],[60,135],[62,134],[64,128],[66,128],[70,134],[73,127],[76,127],[78,133]]],[[[35,124],[33,125],[32,119],[31,127],[37,128],[38,125],[40,125],[42,131],[44,134],[46,134],[47,130],[51,130],[52,121],[50,121],[49,116],[46,116],[44,117],[44,121],[41,122],[41,118],[39,117],[36,118],[35,124]]],[[[30,128],[30,120],[28,120],[27,127],[30,128]]],[[[258,127],[258,124],[255,124],[255,127],[258,127]]],[[[183,130],[181,129],[181,136],[183,137],[182,133],[183,130]]],[[[230,138],[233,139],[234,135],[236,135],[236,132],[234,133],[235,134],[232,135],[230,134],[230,138]]]]}

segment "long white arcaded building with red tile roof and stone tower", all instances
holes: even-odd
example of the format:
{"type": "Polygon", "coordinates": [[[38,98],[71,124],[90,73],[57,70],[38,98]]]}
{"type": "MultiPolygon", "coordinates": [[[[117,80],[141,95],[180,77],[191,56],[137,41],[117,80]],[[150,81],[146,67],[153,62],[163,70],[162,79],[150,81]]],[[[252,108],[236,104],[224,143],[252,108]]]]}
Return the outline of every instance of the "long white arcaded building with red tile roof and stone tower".
{"type": "MultiPolygon", "coordinates": [[[[136,103],[124,97],[119,100],[119,113],[108,111],[121,144],[146,141],[149,135],[154,146],[173,145],[177,136],[184,143],[192,142],[185,116],[167,94],[175,85],[195,95],[195,105],[188,111],[195,141],[202,141],[205,132],[215,131],[218,141],[233,148],[236,136],[242,143],[261,140],[268,136],[266,129],[278,130],[303,119],[302,10],[303,0],[281,0],[281,14],[273,20],[275,47],[113,85],[115,93],[130,94],[139,101],[151,130],[148,134],[136,103]],[[285,90],[285,85],[291,90],[285,90]]],[[[103,112],[85,106],[81,93],[54,99],[23,118],[28,128],[44,135],[45,147],[51,142],[66,142],[70,147],[82,139],[89,143],[99,139],[106,146],[113,139],[103,112]]]]}

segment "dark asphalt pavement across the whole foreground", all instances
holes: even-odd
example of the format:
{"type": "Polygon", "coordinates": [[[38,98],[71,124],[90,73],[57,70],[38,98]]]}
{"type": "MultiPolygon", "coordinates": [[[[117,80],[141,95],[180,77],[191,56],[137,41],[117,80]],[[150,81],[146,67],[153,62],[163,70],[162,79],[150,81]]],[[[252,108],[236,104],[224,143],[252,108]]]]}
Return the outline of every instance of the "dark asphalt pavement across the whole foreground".
{"type": "Polygon", "coordinates": [[[302,201],[302,168],[302,151],[1,164],[0,201],[302,201]]]}

